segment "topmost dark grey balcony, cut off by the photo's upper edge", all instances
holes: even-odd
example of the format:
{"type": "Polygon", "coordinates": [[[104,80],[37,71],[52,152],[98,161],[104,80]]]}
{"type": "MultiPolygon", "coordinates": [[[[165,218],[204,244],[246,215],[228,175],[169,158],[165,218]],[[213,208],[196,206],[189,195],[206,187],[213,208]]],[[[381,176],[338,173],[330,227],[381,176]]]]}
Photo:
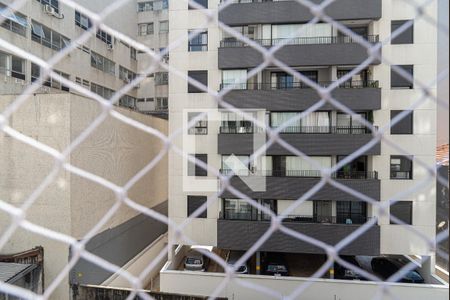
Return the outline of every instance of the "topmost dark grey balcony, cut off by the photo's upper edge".
{"type": "MultiPolygon", "coordinates": [[[[312,0],[321,3],[322,0],[312,0]]],[[[325,8],[334,20],[378,20],[381,0],[339,0],[325,8]]],[[[304,23],[313,19],[310,10],[296,1],[234,0],[219,11],[219,20],[229,26],[245,24],[304,23]]]]}

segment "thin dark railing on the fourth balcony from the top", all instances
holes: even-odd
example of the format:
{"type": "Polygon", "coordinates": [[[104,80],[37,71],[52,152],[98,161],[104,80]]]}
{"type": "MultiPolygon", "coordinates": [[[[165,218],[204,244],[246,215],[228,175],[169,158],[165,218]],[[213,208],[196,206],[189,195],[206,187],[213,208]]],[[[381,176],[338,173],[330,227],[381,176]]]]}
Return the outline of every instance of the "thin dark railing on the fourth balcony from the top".
{"type": "MultiPolygon", "coordinates": [[[[377,128],[377,126],[375,126],[377,128]]],[[[249,134],[254,132],[263,132],[261,127],[232,127],[221,126],[221,134],[249,134]]],[[[287,126],[281,133],[294,134],[370,134],[372,130],[364,126],[287,126]]]]}

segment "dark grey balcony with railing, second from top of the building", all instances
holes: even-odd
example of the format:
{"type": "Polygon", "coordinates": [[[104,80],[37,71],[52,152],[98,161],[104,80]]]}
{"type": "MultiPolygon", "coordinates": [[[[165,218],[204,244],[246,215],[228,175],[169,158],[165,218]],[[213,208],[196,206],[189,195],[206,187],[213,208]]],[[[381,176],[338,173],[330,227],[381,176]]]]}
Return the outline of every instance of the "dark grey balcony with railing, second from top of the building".
{"type": "MultiPolygon", "coordinates": [[[[367,37],[378,43],[378,35],[367,37]]],[[[299,37],[294,39],[253,40],[263,47],[287,43],[275,57],[289,66],[359,65],[367,58],[367,49],[348,36],[299,37]]],[[[219,69],[254,68],[264,62],[262,54],[236,39],[225,39],[219,48],[219,69]]],[[[372,64],[380,64],[373,61],[372,64]]]]}

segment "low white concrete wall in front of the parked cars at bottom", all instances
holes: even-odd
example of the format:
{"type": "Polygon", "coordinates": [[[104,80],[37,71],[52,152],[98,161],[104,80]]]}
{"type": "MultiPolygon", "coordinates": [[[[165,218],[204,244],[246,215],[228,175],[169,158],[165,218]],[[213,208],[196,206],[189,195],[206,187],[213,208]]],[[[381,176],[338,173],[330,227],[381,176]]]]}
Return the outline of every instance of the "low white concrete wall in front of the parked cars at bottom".
{"type": "MultiPolygon", "coordinates": [[[[225,276],[220,273],[163,270],[160,274],[160,280],[162,292],[206,297],[211,295],[222,284],[225,276]]],[[[283,299],[283,297],[289,296],[294,290],[300,288],[302,284],[308,281],[313,281],[313,284],[293,299],[372,299],[379,290],[379,286],[376,283],[365,281],[238,275],[236,279],[228,282],[217,296],[235,300],[283,299]],[[243,286],[238,283],[238,280],[251,284],[255,288],[250,289],[247,286],[243,286]],[[266,291],[267,289],[271,290],[273,294],[269,294],[266,291]]],[[[389,291],[398,299],[448,299],[448,287],[446,286],[394,283],[389,286],[389,291]]],[[[391,296],[382,295],[379,299],[387,300],[391,299],[391,296]]]]}

